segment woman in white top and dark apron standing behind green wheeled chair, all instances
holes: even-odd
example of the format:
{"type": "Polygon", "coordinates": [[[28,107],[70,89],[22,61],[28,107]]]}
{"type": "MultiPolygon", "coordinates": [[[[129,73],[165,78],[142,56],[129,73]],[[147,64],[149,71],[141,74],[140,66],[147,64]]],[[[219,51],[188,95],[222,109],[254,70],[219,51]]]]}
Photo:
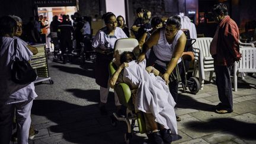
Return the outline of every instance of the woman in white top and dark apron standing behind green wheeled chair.
{"type": "MultiPolygon", "coordinates": [[[[107,114],[107,103],[110,86],[108,85],[108,65],[113,60],[114,44],[117,39],[127,38],[124,31],[117,27],[117,18],[112,12],[103,15],[105,27],[101,28],[92,41],[92,48],[97,52],[95,62],[95,81],[100,85],[100,112],[107,114]]],[[[117,113],[121,110],[121,104],[117,95],[114,96],[117,113]]]]}

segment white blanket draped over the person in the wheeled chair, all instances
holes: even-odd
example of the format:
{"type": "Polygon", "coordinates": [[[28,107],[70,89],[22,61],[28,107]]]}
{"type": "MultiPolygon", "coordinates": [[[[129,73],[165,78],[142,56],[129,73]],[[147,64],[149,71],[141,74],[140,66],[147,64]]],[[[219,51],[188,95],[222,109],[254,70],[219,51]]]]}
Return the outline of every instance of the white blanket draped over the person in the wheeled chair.
{"type": "Polygon", "coordinates": [[[176,105],[168,85],[160,76],[149,74],[146,70],[146,60],[137,64],[129,62],[124,69],[124,82],[137,86],[135,108],[145,113],[152,113],[155,121],[165,129],[171,129],[172,134],[177,134],[177,121],[174,106],[176,105]]]}

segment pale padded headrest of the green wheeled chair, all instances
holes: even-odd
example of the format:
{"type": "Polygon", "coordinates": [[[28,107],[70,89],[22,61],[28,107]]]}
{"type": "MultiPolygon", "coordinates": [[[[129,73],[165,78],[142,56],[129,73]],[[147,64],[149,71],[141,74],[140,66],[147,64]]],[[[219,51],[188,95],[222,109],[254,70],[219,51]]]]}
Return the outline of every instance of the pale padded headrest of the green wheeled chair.
{"type": "Polygon", "coordinates": [[[119,53],[123,53],[125,51],[132,52],[135,47],[139,45],[139,42],[136,39],[133,38],[124,38],[124,39],[118,39],[116,40],[116,43],[114,45],[114,52],[116,50],[119,50],[119,53]]]}

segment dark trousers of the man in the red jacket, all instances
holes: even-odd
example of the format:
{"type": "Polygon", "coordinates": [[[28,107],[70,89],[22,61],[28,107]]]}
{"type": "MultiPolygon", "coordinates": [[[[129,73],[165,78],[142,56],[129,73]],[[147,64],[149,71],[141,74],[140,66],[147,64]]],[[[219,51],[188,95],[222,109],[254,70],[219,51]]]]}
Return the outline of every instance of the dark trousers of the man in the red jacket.
{"type": "Polygon", "coordinates": [[[215,74],[219,100],[221,102],[220,108],[233,110],[231,71],[229,66],[215,65],[215,74]]]}

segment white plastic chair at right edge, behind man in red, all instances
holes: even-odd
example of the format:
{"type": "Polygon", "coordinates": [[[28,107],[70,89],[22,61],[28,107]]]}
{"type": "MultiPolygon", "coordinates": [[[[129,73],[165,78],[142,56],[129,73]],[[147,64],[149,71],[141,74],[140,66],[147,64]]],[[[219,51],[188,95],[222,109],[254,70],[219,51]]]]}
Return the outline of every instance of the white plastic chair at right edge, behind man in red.
{"type": "MultiPolygon", "coordinates": [[[[255,47],[241,47],[240,53],[242,58],[239,62],[234,64],[234,90],[237,91],[237,77],[238,73],[254,73],[256,72],[256,48],[255,47]]],[[[242,78],[244,75],[242,74],[242,78]]]]}

